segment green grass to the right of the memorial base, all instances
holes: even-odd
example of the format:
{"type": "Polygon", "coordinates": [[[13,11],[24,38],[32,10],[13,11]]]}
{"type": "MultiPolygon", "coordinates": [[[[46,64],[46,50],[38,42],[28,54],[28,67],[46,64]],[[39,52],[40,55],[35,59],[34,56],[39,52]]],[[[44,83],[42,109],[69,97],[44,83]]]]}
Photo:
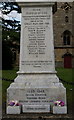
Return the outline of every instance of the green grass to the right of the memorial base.
{"type": "MultiPolygon", "coordinates": [[[[74,83],[74,69],[64,69],[64,68],[56,68],[57,76],[67,82],[73,82],[74,83]]],[[[67,105],[68,110],[72,111],[73,106],[73,92],[74,92],[74,85],[67,84],[63,82],[63,85],[66,87],[66,96],[67,96],[67,105]]]]}

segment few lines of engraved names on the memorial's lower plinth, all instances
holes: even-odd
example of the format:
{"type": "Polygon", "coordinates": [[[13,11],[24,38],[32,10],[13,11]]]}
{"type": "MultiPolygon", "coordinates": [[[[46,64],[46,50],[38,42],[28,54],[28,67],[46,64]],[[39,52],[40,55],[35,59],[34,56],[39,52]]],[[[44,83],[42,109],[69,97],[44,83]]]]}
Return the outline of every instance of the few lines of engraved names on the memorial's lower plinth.
{"type": "Polygon", "coordinates": [[[25,94],[25,100],[20,100],[20,102],[26,105],[49,104],[47,93],[44,89],[28,89],[25,94]]]}

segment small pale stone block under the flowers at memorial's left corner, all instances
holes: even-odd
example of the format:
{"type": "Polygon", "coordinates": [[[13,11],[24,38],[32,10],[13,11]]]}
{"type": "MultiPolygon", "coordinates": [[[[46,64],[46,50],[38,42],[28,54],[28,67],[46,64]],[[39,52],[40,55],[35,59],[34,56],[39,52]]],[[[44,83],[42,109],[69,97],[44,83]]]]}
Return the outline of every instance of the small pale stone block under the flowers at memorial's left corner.
{"type": "Polygon", "coordinates": [[[6,113],[7,114],[20,114],[21,107],[20,106],[7,106],[6,113]]]}

